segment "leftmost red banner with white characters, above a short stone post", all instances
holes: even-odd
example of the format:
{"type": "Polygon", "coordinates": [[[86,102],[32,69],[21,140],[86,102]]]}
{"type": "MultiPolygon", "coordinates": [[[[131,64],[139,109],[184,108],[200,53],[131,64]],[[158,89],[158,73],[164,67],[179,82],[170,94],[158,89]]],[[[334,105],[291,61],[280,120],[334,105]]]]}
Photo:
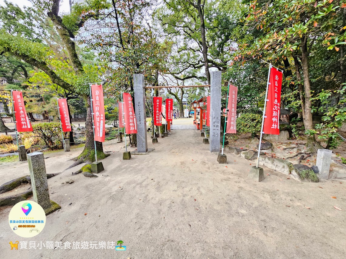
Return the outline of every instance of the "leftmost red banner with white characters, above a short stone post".
{"type": "Polygon", "coordinates": [[[23,95],[21,91],[13,90],[13,106],[15,107],[17,132],[33,131],[28,115],[25,110],[23,95]]]}

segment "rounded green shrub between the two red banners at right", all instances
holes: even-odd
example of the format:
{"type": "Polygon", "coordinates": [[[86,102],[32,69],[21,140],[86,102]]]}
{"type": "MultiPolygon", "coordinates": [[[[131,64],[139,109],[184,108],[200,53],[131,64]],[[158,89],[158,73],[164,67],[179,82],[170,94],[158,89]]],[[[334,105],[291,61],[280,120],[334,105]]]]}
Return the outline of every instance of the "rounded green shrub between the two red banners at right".
{"type": "Polygon", "coordinates": [[[243,113],[236,120],[239,133],[251,133],[254,137],[261,131],[262,115],[256,113],[243,113]]]}

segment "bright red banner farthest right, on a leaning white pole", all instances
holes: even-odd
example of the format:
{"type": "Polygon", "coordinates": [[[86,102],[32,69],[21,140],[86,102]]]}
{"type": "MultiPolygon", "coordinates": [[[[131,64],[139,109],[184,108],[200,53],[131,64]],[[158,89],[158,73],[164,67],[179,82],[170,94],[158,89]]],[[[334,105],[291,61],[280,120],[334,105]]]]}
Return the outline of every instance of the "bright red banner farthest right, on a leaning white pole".
{"type": "Polygon", "coordinates": [[[265,134],[279,135],[282,72],[272,67],[270,69],[269,83],[263,132],[265,134]]]}

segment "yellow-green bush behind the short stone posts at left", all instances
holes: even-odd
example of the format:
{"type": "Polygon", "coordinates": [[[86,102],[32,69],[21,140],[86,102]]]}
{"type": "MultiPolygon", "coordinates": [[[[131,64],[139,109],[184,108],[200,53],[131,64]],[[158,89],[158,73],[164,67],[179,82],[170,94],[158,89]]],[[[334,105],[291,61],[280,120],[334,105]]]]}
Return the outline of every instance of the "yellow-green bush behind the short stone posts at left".
{"type": "Polygon", "coordinates": [[[51,149],[56,149],[56,144],[62,144],[61,126],[58,122],[33,124],[33,135],[40,137],[51,149]]]}

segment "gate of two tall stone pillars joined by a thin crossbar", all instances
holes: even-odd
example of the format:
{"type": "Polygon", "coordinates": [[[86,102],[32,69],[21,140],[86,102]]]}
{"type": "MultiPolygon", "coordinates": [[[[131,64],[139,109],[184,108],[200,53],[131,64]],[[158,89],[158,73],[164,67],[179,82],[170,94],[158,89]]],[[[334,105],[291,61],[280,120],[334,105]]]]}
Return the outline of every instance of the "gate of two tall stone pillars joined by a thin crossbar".
{"type": "Polygon", "coordinates": [[[135,113],[137,119],[137,152],[148,151],[147,126],[145,113],[145,89],[152,88],[185,88],[185,87],[210,87],[210,152],[220,152],[220,124],[221,124],[221,71],[210,73],[210,85],[190,86],[145,86],[143,74],[133,75],[135,92],[135,113]]]}

